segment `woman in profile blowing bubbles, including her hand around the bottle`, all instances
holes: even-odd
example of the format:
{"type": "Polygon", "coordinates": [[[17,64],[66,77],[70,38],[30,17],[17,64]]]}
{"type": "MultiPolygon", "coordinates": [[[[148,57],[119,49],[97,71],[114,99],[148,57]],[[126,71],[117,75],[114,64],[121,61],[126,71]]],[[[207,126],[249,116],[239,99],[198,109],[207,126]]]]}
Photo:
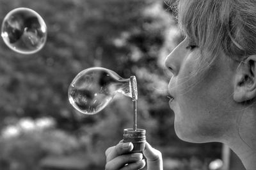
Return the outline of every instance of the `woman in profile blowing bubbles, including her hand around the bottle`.
{"type": "MultiPolygon", "coordinates": [[[[191,143],[221,142],[256,169],[256,1],[180,0],[186,38],[166,58],[175,132],[191,143]]],[[[141,169],[131,143],[106,150],[106,169],[141,169]]],[[[163,169],[148,143],[148,170],[163,169]]]]}

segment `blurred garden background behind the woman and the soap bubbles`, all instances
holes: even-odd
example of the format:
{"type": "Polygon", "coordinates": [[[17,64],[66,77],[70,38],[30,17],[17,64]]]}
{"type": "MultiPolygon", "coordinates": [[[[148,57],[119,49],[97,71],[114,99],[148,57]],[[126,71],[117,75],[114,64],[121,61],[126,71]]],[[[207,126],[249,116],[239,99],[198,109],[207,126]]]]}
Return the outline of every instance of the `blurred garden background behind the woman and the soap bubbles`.
{"type": "MultiPolygon", "coordinates": [[[[38,12],[48,29],[45,47],[23,55],[0,41],[0,168],[100,170],[104,151],[132,128],[131,98],[118,96],[99,114],[68,102],[72,79],[102,66],[138,82],[138,128],[163,153],[164,169],[221,164],[221,144],[180,141],[168,106],[164,58],[182,40],[163,0],[0,0],[0,22],[14,8],[38,12]]],[[[217,166],[218,167],[218,166],[217,166]]]]}

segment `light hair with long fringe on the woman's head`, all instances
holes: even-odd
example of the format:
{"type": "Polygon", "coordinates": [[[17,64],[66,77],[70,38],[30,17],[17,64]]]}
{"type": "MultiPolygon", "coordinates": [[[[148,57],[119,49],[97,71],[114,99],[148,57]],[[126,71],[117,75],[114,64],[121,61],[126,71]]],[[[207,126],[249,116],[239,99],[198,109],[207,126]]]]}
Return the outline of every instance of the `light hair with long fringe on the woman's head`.
{"type": "Polygon", "coordinates": [[[256,54],[255,0],[178,0],[179,27],[213,56],[233,59],[256,54]]]}

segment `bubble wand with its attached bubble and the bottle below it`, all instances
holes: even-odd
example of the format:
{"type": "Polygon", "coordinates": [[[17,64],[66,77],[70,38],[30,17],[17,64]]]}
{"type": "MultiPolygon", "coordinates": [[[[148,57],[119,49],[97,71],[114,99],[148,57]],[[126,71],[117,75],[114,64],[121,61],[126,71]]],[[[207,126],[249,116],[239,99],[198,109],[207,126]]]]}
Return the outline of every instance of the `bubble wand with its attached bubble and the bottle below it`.
{"type": "Polygon", "coordinates": [[[137,128],[138,90],[136,77],[120,77],[112,70],[93,67],[78,73],[68,88],[68,99],[77,111],[83,114],[96,114],[102,111],[116,93],[132,98],[133,128],[125,128],[123,141],[134,145],[132,152],[145,149],[146,130],[137,128]]]}

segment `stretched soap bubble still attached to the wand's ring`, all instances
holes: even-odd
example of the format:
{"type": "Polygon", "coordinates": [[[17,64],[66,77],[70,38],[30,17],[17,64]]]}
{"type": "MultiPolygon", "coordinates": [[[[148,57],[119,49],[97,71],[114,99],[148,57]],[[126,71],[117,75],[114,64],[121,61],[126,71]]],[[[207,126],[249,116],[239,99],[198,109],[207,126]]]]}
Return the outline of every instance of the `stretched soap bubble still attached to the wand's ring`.
{"type": "Polygon", "coordinates": [[[102,111],[116,93],[137,100],[135,76],[123,79],[112,70],[93,67],[76,75],[68,88],[68,99],[77,111],[95,114],[102,111]]]}

